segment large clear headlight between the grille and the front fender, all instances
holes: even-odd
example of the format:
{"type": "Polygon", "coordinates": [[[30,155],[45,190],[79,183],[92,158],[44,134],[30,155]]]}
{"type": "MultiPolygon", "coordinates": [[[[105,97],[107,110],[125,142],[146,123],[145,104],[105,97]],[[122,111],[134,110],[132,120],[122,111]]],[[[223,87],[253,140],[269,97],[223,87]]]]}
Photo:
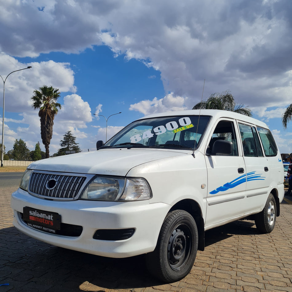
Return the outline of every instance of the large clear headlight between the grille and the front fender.
{"type": "Polygon", "coordinates": [[[152,197],[150,187],[142,178],[95,176],[80,199],[95,201],[137,201],[152,197]]]}

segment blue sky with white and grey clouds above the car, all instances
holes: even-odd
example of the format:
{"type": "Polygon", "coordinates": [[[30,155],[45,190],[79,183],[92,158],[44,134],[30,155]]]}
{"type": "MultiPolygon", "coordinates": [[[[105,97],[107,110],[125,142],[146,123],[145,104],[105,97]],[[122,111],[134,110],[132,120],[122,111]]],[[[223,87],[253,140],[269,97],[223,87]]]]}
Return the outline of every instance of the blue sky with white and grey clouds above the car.
{"type": "MultiPolygon", "coordinates": [[[[0,75],[5,79],[4,145],[41,149],[34,89],[61,92],[50,154],[67,131],[95,149],[132,120],[191,109],[230,90],[268,124],[281,152],[292,152],[292,2],[26,0],[0,3],[0,75]]],[[[0,80],[1,81],[1,80],[0,80]]],[[[2,129],[2,81],[0,125],[2,129]]],[[[1,130],[0,130],[1,131],[1,130]]]]}

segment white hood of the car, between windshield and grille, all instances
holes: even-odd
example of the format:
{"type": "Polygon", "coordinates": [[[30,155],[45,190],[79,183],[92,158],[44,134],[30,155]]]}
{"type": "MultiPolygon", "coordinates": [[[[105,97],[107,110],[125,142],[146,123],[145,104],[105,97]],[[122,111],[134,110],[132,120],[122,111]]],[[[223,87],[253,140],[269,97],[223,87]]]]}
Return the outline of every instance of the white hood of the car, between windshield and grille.
{"type": "Polygon", "coordinates": [[[30,164],[28,168],[43,171],[126,176],[128,171],[137,165],[189,153],[190,151],[167,149],[99,149],[38,160],[30,164]]]}

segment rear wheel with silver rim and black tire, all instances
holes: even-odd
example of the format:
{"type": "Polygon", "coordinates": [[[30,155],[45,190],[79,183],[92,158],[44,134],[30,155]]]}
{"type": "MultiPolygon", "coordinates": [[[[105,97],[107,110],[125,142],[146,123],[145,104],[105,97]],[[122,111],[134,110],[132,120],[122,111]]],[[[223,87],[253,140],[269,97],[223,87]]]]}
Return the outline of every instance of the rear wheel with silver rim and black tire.
{"type": "Polygon", "coordinates": [[[258,231],[270,233],[273,231],[276,223],[277,206],[276,200],[272,194],[268,196],[264,209],[255,214],[255,225],[258,231]]]}

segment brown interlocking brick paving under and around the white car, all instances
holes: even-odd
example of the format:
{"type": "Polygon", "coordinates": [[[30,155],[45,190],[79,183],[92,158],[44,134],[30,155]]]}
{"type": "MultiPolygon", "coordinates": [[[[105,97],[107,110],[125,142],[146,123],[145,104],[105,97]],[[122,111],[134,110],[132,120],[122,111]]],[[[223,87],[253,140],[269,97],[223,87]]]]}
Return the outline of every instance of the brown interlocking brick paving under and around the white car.
{"type": "Polygon", "coordinates": [[[180,282],[152,278],[143,256],[112,259],[41,243],[12,225],[10,195],[0,188],[0,292],[5,291],[291,291],[292,205],[285,197],[274,231],[259,234],[253,221],[207,231],[191,273],[180,282]]]}

